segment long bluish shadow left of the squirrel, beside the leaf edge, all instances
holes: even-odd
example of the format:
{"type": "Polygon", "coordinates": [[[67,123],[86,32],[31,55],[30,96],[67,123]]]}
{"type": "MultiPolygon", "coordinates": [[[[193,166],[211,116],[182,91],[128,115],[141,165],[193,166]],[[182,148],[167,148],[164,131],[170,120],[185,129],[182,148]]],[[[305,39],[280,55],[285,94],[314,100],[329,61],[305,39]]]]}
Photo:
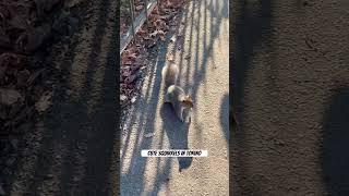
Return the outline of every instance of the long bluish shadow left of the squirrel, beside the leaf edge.
{"type": "MultiPolygon", "coordinates": [[[[168,42],[170,37],[168,36],[166,39],[166,42],[168,42]]],[[[121,174],[121,195],[132,195],[132,194],[140,194],[144,192],[144,173],[145,173],[145,167],[147,163],[147,158],[142,158],[140,151],[142,149],[148,149],[152,145],[153,138],[144,139],[141,138],[141,133],[147,134],[149,132],[154,132],[154,126],[155,126],[155,111],[157,109],[158,102],[159,102],[159,96],[160,94],[160,81],[161,81],[161,69],[165,64],[166,61],[166,53],[167,53],[167,47],[165,46],[159,46],[158,48],[154,49],[155,53],[155,61],[154,66],[151,66],[151,70],[148,71],[151,77],[148,78],[149,81],[148,86],[145,87],[144,91],[144,98],[140,98],[137,100],[136,107],[133,111],[132,114],[132,121],[129,122],[131,124],[127,133],[127,139],[122,142],[122,155],[125,155],[129,150],[129,139],[131,138],[131,131],[136,130],[136,137],[135,140],[137,144],[134,146],[132,157],[131,157],[131,163],[128,172],[125,174],[121,174]],[[137,111],[142,111],[142,113],[139,113],[137,111]],[[134,118],[133,118],[134,117],[134,118]],[[135,127],[136,126],[136,127],[135,127]],[[123,182],[128,179],[131,177],[132,175],[136,174],[140,176],[137,179],[137,182],[133,182],[133,187],[128,187],[128,184],[124,184],[123,182]],[[136,193],[134,193],[133,189],[137,189],[136,193]]],[[[121,167],[123,167],[124,160],[123,157],[121,157],[121,167]]],[[[121,168],[122,170],[122,168],[121,168]]]]}

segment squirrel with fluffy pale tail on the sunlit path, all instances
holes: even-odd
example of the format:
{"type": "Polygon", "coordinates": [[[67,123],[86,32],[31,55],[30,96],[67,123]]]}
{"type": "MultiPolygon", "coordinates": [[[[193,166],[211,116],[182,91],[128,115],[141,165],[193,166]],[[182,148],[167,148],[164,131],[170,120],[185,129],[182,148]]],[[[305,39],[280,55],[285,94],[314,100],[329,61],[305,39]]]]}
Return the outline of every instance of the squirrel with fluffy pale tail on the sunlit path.
{"type": "Polygon", "coordinates": [[[194,107],[193,99],[186,95],[180,86],[176,85],[178,79],[179,69],[171,63],[163,69],[163,78],[165,81],[165,103],[171,103],[177,117],[184,122],[190,120],[191,111],[194,107]]]}

